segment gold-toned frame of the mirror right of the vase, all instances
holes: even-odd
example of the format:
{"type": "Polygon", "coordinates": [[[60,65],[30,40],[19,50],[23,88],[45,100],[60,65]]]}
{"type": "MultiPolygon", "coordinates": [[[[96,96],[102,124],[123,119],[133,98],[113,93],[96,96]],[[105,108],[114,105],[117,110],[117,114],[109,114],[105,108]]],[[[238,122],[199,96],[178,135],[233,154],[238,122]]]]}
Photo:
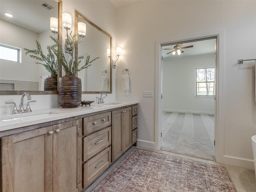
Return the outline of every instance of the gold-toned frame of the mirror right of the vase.
{"type": "MultiPolygon", "coordinates": [[[[108,34],[106,31],[99,28],[96,24],[88,20],[86,17],[84,17],[82,14],[80,14],[77,10],[75,10],[75,34],[76,34],[76,40],[78,40],[78,17],[84,19],[86,22],[94,26],[96,29],[98,29],[100,32],[104,33],[106,36],[110,38],[110,91],[82,91],[82,94],[101,94],[101,93],[112,93],[112,36],[108,34]]],[[[78,55],[78,46],[76,45],[75,48],[75,56],[78,55]]],[[[76,73],[77,76],[77,73],[76,73]]]]}

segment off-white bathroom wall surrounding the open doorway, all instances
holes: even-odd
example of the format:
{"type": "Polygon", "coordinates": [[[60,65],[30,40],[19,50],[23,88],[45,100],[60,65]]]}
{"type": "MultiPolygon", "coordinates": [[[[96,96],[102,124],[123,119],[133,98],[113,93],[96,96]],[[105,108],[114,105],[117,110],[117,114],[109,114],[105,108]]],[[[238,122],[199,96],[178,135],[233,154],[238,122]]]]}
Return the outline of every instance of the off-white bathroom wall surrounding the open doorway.
{"type": "Polygon", "coordinates": [[[158,129],[154,126],[154,98],[144,98],[142,94],[144,90],[154,91],[156,42],[222,30],[217,160],[253,168],[250,138],[256,134],[255,62],[239,65],[237,60],[255,58],[255,16],[255,1],[153,0],[117,9],[117,44],[123,50],[117,67],[117,98],[140,102],[140,145],[154,148],[155,129],[158,129]],[[122,70],[126,67],[130,70],[128,97],[123,96],[121,89],[122,70]]]}

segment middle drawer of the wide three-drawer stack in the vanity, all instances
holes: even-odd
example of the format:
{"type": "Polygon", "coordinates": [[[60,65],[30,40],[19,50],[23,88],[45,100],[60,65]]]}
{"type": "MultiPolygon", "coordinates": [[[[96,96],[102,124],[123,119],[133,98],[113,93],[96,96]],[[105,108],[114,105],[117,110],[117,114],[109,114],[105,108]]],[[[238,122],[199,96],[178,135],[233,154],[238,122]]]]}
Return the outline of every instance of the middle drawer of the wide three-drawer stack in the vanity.
{"type": "Polygon", "coordinates": [[[111,145],[111,126],[83,138],[83,161],[111,145]]]}

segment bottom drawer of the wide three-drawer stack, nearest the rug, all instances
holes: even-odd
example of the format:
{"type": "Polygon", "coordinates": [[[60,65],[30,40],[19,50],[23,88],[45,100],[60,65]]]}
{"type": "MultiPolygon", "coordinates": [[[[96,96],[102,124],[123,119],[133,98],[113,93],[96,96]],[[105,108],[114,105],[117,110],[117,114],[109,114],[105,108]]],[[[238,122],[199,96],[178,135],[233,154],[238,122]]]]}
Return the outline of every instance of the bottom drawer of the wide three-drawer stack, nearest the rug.
{"type": "Polygon", "coordinates": [[[111,147],[106,148],[83,165],[83,188],[86,188],[111,164],[111,147]]]}

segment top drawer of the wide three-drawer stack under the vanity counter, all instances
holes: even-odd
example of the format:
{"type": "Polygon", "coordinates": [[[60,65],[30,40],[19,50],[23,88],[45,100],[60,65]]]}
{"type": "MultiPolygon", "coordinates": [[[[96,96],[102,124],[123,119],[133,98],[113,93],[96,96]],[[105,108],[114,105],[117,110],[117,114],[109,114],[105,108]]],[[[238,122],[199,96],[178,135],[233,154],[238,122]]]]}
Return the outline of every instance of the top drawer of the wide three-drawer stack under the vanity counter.
{"type": "Polygon", "coordinates": [[[111,112],[92,115],[83,118],[83,135],[100,130],[111,125],[111,112]]]}

